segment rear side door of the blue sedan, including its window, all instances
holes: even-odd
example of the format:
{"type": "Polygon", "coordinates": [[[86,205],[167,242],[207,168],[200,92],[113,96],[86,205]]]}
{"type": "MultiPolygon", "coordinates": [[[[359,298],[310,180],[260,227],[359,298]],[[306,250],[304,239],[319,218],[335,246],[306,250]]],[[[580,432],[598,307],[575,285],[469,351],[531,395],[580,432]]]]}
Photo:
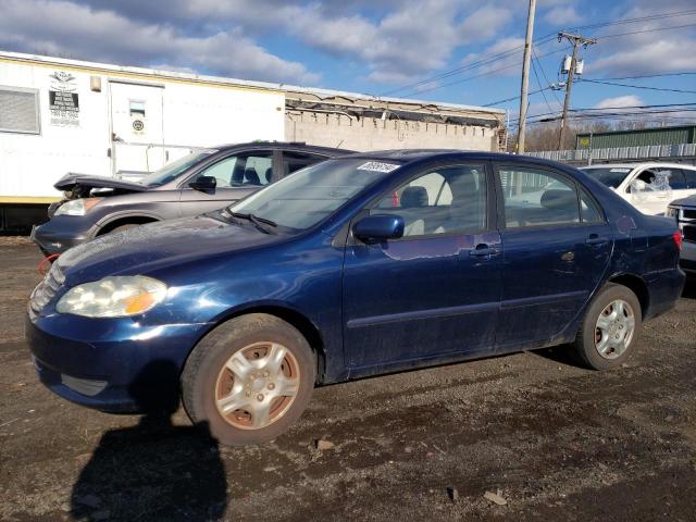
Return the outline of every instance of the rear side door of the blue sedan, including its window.
{"type": "Polygon", "coordinates": [[[504,246],[497,347],[551,341],[602,279],[611,229],[594,198],[563,173],[500,163],[496,179],[504,246]]]}

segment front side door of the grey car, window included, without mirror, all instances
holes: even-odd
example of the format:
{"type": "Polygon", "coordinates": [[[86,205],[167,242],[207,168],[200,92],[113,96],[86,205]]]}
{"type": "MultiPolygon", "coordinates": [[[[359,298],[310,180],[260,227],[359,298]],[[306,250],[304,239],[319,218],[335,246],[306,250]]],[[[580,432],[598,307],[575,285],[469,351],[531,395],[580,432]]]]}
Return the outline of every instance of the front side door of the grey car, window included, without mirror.
{"type": "Polygon", "coordinates": [[[181,215],[196,215],[222,209],[273,181],[273,150],[235,152],[217,159],[181,186],[181,215]],[[200,176],[216,181],[214,190],[190,188],[200,176]]]}

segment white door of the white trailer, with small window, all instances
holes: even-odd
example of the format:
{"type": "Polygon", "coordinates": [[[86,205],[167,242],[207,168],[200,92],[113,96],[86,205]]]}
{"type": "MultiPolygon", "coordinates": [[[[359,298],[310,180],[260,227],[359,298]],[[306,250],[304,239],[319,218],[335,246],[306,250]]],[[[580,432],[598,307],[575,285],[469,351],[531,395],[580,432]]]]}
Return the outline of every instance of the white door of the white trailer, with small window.
{"type": "Polygon", "coordinates": [[[111,169],[113,175],[137,177],[166,163],[164,86],[111,80],[111,169]]]}

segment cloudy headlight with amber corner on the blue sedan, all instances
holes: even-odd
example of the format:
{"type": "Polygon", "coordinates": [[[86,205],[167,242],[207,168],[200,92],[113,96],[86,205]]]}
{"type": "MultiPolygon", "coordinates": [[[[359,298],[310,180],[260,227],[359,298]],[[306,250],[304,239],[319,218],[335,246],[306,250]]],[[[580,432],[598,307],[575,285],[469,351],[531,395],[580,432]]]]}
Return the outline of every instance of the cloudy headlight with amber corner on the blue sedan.
{"type": "Polygon", "coordinates": [[[58,301],[59,313],[124,318],[147,312],[166,296],[166,285],[144,275],[104,277],[77,285],[58,301]]]}

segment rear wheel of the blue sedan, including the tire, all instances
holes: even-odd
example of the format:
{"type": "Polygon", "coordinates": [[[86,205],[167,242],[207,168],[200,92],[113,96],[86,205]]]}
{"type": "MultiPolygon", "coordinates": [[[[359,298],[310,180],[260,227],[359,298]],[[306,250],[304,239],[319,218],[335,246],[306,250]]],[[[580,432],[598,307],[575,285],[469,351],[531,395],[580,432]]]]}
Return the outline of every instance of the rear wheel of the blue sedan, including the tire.
{"type": "Polygon", "coordinates": [[[621,365],[642,325],[641,302],[627,287],[608,283],[592,300],[574,341],[577,361],[593,370],[621,365]]]}

